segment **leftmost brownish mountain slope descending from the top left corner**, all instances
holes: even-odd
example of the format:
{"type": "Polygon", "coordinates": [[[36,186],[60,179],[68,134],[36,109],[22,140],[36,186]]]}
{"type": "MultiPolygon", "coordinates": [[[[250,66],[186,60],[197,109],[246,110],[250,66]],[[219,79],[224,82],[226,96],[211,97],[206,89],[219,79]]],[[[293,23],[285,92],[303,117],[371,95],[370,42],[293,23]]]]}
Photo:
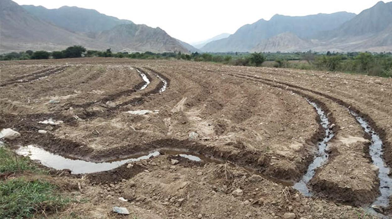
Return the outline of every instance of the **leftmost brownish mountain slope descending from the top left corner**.
{"type": "Polygon", "coordinates": [[[98,45],[87,37],[44,22],[11,0],[0,1],[0,51],[59,49],[66,45],[98,45]]]}

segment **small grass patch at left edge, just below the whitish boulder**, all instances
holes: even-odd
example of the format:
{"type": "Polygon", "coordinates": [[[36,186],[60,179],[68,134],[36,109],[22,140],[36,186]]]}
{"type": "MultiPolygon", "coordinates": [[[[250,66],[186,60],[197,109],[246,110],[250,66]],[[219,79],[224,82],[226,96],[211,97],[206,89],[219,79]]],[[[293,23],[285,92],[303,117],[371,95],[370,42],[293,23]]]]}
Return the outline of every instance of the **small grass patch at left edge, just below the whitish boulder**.
{"type": "Polygon", "coordinates": [[[28,157],[17,157],[5,147],[0,147],[0,174],[13,174],[30,170],[35,172],[38,168],[34,167],[28,157]]]}

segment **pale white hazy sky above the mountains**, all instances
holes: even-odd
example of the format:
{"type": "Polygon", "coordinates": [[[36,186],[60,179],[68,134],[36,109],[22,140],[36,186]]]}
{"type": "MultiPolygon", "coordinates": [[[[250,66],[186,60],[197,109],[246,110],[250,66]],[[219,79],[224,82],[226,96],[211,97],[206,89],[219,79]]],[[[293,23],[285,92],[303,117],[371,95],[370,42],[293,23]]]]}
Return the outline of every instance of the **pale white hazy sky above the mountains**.
{"type": "MultiPolygon", "coordinates": [[[[160,27],[188,43],[239,27],[274,14],[303,16],[348,11],[359,14],[379,0],[14,0],[23,5],[53,9],[64,5],[96,9],[100,13],[160,27]]],[[[390,0],[384,1],[390,2],[390,0]]]]}

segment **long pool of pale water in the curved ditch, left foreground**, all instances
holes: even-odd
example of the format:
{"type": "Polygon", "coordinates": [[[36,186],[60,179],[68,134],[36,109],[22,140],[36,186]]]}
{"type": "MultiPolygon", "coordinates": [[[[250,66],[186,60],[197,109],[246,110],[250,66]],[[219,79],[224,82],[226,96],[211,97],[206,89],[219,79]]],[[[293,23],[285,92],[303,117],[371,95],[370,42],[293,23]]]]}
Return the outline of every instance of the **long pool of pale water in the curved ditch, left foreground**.
{"type": "Polygon", "coordinates": [[[114,168],[120,167],[126,163],[131,163],[135,161],[140,161],[143,159],[149,159],[151,157],[159,156],[161,154],[172,154],[178,155],[192,161],[201,161],[202,159],[208,159],[204,156],[194,155],[184,151],[175,151],[175,150],[156,150],[149,154],[139,155],[137,157],[126,158],[121,160],[114,160],[102,163],[94,163],[83,161],[80,159],[75,159],[73,157],[63,157],[57,154],[53,154],[48,152],[42,148],[35,147],[33,145],[29,145],[27,147],[20,147],[16,150],[16,154],[21,156],[28,156],[32,160],[38,160],[41,162],[42,165],[46,167],[50,167],[56,170],[64,170],[69,169],[71,170],[72,174],[88,174],[94,172],[102,172],[106,170],[112,170],[114,168]]]}

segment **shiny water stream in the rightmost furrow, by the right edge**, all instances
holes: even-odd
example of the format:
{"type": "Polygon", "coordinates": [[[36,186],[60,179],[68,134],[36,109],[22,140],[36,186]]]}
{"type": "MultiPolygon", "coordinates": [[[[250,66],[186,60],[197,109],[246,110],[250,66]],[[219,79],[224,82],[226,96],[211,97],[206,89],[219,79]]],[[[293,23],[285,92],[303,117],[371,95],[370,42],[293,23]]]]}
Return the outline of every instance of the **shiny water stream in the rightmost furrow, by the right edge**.
{"type": "Polygon", "coordinates": [[[392,179],[388,176],[390,169],[385,165],[383,160],[383,141],[376,132],[369,126],[365,119],[361,118],[355,112],[350,111],[363,130],[372,138],[369,147],[369,154],[372,157],[373,164],[379,168],[378,177],[380,179],[380,196],[372,205],[387,207],[389,205],[389,197],[392,195],[392,179]]]}

